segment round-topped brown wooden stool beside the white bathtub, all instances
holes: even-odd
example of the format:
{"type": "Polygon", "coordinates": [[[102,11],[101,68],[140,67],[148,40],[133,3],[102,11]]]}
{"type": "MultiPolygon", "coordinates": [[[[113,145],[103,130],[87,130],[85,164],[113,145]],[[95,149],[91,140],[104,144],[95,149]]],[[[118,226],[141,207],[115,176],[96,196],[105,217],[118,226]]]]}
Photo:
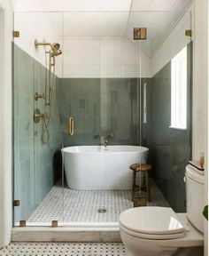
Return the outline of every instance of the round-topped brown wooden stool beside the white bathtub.
{"type": "Polygon", "coordinates": [[[133,171],[133,184],[132,184],[132,196],[131,200],[134,200],[135,190],[141,189],[141,186],[135,184],[136,172],[144,172],[145,188],[147,192],[147,200],[151,201],[151,189],[149,184],[149,171],[151,171],[151,164],[131,164],[129,168],[133,171]]]}

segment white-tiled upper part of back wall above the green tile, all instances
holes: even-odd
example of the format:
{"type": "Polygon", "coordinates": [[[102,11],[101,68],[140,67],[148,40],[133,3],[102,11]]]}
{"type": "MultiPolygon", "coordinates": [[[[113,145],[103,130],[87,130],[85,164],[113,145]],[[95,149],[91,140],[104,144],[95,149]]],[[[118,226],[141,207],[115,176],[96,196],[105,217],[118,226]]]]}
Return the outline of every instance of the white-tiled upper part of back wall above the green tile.
{"type": "Polygon", "coordinates": [[[125,36],[63,38],[63,77],[151,77],[149,57],[125,36]]]}

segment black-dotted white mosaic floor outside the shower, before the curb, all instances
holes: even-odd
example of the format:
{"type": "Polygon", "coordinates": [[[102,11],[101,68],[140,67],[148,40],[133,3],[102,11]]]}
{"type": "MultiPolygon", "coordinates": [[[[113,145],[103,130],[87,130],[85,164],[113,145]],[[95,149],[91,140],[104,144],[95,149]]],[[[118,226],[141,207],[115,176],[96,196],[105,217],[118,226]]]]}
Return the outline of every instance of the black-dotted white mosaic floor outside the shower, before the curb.
{"type": "Polygon", "coordinates": [[[12,243],[1,256],[129,256],[122,243],[12,243]]]}

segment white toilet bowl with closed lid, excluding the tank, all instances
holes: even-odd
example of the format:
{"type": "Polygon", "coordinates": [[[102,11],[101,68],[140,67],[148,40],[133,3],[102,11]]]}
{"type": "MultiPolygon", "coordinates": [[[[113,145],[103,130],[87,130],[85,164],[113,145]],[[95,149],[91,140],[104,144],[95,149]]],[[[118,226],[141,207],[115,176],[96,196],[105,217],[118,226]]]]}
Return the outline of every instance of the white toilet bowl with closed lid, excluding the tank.
{"type": "MultiPolygon", "coordinates": [[[[203,246],[203,234],[193,227],[186,213],[175,213],[169,207],[138,207],[122,212],[120,236],[135,256],[170,256],[182,248],[188,252],[189,247],[188,255],[192,255],[192,247],[203,246]]],[[[203,255],[201,248],[199,255],[203,255]]]]}

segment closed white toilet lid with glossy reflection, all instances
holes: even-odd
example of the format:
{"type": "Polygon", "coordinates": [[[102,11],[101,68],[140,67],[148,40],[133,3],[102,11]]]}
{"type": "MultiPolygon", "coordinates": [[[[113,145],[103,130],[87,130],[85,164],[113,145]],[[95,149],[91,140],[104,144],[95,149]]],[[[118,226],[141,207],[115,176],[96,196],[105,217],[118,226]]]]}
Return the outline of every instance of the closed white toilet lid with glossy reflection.
{"type": "Polygon", "coordinates": [[[120,214],[120,225],[128,230],[150,235],[186,231],[170,207],[144,206],[128,209],[120,214]]]}

